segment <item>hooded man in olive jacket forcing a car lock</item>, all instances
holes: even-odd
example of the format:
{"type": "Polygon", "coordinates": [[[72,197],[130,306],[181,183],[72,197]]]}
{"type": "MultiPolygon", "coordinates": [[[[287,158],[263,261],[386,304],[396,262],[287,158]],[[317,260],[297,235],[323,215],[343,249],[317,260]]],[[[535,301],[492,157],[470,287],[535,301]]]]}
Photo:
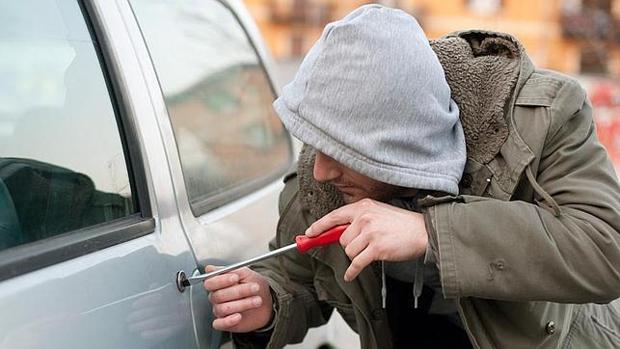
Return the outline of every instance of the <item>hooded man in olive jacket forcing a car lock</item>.
{"type": "Polygon", "coordinates": [[[205,282],[239,346],[300,342],[335,308],[364,348],[620,347],[617,178],[583,89],[516,39],[429,45],[402,11],[363,6],[274,107],[306,145],[270,247],[350,226],[205,282]]]}

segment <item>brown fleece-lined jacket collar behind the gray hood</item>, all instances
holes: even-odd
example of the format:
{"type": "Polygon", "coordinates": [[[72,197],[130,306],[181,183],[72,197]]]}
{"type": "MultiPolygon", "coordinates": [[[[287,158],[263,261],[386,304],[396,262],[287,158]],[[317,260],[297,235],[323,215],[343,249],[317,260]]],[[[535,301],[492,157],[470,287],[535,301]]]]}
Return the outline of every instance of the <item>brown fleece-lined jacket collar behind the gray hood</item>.
{"type": "Polygon", "coordinates": [[[446,76],[450,76],[453,98],[461,99],[457,104],[467,142],[465,173],[480,170],[470,176],[478,184],[472,188],[472,194],[482,195],[493,177],[497,183],[494,197],[508,200],[525,167],[535,157],[514,121],[517,96],[534,72],[534,64],[521,43],[505,33],[459,31],[439,39],[433,47],[441,47],[435,53],[445,61],[442,64],[446,76]],[[460,48],[460,54],[450,56],[455,47],[460,48]],[[484,67],[484,71],[479,67],[484,67]]]}

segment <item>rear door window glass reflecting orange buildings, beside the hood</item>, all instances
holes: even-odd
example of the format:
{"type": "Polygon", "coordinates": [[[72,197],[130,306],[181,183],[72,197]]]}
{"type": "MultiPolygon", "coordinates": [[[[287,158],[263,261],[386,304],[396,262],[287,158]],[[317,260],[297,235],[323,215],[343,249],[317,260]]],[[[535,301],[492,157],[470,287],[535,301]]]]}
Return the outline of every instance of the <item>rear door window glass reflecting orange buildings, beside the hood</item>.
{"type": "Polygon", "coordinates": [[[233,13],[218,1],[130,3],[163,91],[194,214],[280,175],[289,139],[271,106],[265,70],[233,13]]]}

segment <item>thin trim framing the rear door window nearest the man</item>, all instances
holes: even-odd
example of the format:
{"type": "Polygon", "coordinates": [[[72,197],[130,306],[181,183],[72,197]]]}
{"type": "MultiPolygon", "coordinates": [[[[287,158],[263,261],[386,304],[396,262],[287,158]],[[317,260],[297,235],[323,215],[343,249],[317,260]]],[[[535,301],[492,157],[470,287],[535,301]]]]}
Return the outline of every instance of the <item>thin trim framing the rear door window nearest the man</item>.
{"type": "MultiPolygon", "coordinates": [[[[267,68],[265,66],[265,61],[262,57],[262,55],[260,54],[259,50],[257,49],[255,42],[253,40],[253,36],[250,35],[250,33],[248,32],[248,29],[246,28],[246,26],[244,25],[243,21],[241,20],[241,18],[239,17],[239,15],[237,14],[237,12],[235,11],[234,8],[232,8],[227,2],[222,1],[222,0],[212,0],[213,2],[219,3],[223,8],[225,8],[235,19],[235,21],[237,22],[237,24],[240,26],[241,30],[243,30],[243,33],[245,34],[245,38],[248,41],[248,44],[250,46],[250,48],[252,49],[252,51],[254,52],[254,54],[256,55],[257,58],[257,63],[260,66],[260,69],[262,70],[264,76],[265,76],[265,81],[267,82],[267,85],[269,86],[269,89],[271,90],[271,94],[275,98],[278,97],[278,93],[276,92],[276,89],[274,87],[273,84],[273,80],[271,75],[269,74],[269,72],[267,71],[267,68]]],[[[177,156],[179,159],[179,167],[181,170],[181,176],[183,178],[183,185],[185,187],[185,195],[186,195],[186,200],[187,203],[189,204],[190,210],[192,211],[192,214],[194,215],[194,217],[200,217],[206,213],[208,213],[209,211],[219,208],[221,206],[224,206],[226,204],[229,204],[235,200],[238,200],[240,198],[242,198],[245,195],[251,194],[253,192],[256,192],[260,189],[262,189],[265,185],[281,178],[282,176],[284,176],[291,168],[291,165],[293,164],[293,159],[294,159],[294,154],[293,154],[293,142],[290,136],[290,133],[288,132],[288,130],[286,128],[284,128],[283,125],[283,131],[286,134],[286,143],[287,143],[287,148],[288,148],[288,158],[283,162],[283,165],[278,168],[275,169],[272,173],[268,173],[264,176],[261,177],[256,177],[256,178],[252,178],[247,180],[246,183],[243,183],[241,185],[235,185],[234,187],[230,188],[230,189],[226,189],[220,193],[216,193],[216,194],[210,194],[210,195],[203,195],[200,196],[194,200],[190,199],[190,195],[189,195],[189,186],[187,185],[187,181],[185,179],[185,174],[183,171],[183,164],[181,161],[181,153],[179,151],[179,146],[178,146],[178,142],[177,142],[177,136],[176,133],[174,131],[174,124],[172,122],[172,118],[171,118],[171,114],[170,111],[168,110],[168,105],[165,103],[165,96],[164,96],[164,92],[163,92],[163,88],[161,86],[161,80],[159,78],[159,74],[157,73],[157,69],[155,67],[155,63],[153,62],[153,57],[151,55],[151,51],[148,47],[146,38],[144,36],[144,31],[142,30],[142,26],[140,25],[140,21],[138,19],[138,16],[136,16],[136,12],[134,11],[133,8],[133,4],[132,1],[129,0],[128,1],[129,7],[131,8],[131,12],[134,16],[134,19],[136,21],[136,23],[138,24],[138,28],[140,30],[140,34],[142,36],[142,40],[145,43],[145,46],[147,48],[147,53],[149,56],[149,59],[151,61],[151,66],[153,67],[153,71],[155,72],[155,77],[157,78],[157,83],[159,85],[159,93],[160,96],[162,98],[163,104],[166,107],[166,117],[168,118],[168,121],[170,122],[170,126],[172,129],[172,135],[174,138],[174,145],[176,147],[176,152],[177,152],[177,156]]],[[[280,123],[282,123],[280,121],[280,123]]]]}

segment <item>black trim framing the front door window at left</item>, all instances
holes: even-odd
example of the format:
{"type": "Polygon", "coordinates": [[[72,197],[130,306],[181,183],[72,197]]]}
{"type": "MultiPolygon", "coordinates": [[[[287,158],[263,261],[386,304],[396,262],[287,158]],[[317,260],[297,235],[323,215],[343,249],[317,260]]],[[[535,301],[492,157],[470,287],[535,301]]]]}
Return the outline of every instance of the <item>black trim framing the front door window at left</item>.
{"type": "Polygon", "coordinates": [[[0,281],[118,245],[155,231],[138,132],[112,63],[103,25],[90,1],[78,0],[114,108],[136,213],[0,251],[0,281]]]}

